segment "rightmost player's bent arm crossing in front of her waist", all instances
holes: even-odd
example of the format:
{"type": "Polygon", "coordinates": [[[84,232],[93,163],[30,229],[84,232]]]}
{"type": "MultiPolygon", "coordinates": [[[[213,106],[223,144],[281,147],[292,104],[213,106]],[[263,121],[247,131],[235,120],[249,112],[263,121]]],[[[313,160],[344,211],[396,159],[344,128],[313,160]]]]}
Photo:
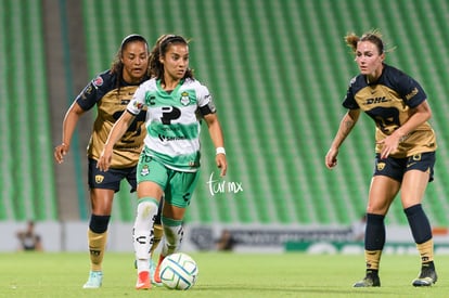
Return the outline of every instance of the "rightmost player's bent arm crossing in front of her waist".
{"type": "Polygon", "coordinates": [[[418,106],[410,108],[409,119],[396,129],[390,135],[380,141],[380,144],[383,144],[381,158],[386,158],[390,153],[396,151],[399,146],[399,143],[413,132],[418,127],[423,125],[425,121],[432,118],[432,109],[427,103],[427,100],[424,100],[418,106]]]}

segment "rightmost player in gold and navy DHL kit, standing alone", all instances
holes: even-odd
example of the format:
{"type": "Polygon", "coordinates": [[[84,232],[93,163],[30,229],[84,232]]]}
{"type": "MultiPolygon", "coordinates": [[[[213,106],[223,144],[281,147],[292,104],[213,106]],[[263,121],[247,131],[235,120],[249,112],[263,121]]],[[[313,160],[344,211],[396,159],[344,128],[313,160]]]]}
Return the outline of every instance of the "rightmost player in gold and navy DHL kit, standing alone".
{"type": "Polygon", "coordinates": [[[403,211],[421,256],[421,273],[413,286],[437,281],[431,224],[421,206],[433,180],[435,132],[427,122],[432,111],[427,96],[413,78],[384,63],[385,47],[377,30],[361,37],[346,36],[360,74],[351,79],[343,105],[348,108],[325,156],[332,169],[338,148],[355,127],[361,111],[375,122],[375,168],[371,181],[364,236],[365,276],[355,287],[381,286],[379,269],[385,244],[384,219],[400,192],[403,211]]]}

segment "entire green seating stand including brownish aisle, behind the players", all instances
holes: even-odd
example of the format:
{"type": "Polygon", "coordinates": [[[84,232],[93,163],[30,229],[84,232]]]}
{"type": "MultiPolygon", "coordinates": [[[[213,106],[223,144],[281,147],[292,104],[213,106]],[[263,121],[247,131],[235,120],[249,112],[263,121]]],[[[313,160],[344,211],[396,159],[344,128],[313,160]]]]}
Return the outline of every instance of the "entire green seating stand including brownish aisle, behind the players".
{"type": "MultiPolygon", "coordinates": [[[[449,2],[447,0],[0,0],[0,222],[89,219],[86,145],[94,112],[69,156],[53,161],[64,114],[132,33],[191,39],[191,67],[215,96],[229,172],[218,180],[203,133],[203,170],[187,223],[348,226],[364,211],[374,127],[362,117],[329,171],[324,155],[357,66],[343,37],[379,28],[389,63],[427,92],[439,142],[424,208],[449,221],[449,2]],[[220,183],[220,184],[219,184],[220,183]],[[235,192],[219,185],[240,185],[235,192]],[[216,192],[210,192],[210,186],[216,192]]],[[[124,184],[113,222],[133,221],[124,184]]],[[[407,225],[400,202],[389,223],[407,225]]]]}

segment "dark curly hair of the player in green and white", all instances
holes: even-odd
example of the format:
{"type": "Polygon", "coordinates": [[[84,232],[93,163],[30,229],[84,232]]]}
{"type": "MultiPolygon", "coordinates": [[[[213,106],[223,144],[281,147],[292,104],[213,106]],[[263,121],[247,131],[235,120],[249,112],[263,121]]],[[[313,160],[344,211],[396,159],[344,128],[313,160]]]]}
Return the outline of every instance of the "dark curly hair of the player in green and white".
{"type": "MultiPolygon", "coordinates": [[[[188,46],[189,42],[179,35],[163,35],[156,40],[150,54],[150,75],[157,79],[164,80],[164,64],[159,57],[164,56],[171,44],[181,43],[188,46]]],[[[188,68],[183,78],[193,78],[193,70],[188,68]]],[[[164,82],[164,81],[163,81],[164,82]]]]}

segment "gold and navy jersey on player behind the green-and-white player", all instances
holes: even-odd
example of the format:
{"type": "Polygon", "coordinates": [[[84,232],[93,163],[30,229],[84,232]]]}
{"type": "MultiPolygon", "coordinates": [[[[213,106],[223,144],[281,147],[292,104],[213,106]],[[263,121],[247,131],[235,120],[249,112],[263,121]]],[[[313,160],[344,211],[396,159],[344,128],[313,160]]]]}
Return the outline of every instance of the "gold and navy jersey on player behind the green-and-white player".
{"type": "MultiPolygon", "coordinates": [[[[89,158],[99,159],[112,127],[126,111],[138,87],[138,85],[127,85],[123,80],[117,85],[117,76],[107,70],[93,79],[77,96],[77,103],[85,111],[97,105],[97,118],[88,145],[89,158]]],[[[115,144],[112,168],[128,168],[137,165],[145,138],[145,111],[141,111],[128,131],[115,144]]]]}

